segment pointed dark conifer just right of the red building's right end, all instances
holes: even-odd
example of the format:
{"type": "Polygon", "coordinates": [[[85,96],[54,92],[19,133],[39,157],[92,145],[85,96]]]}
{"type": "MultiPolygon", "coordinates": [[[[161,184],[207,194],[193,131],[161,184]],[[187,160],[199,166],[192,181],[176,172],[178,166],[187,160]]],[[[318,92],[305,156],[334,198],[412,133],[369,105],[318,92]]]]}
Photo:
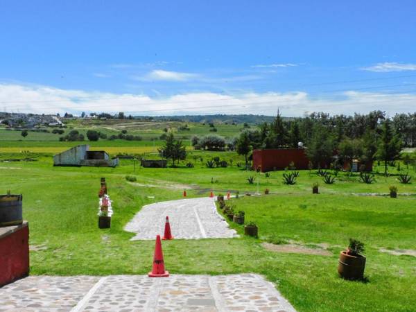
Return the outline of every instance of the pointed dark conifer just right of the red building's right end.
{"type": "Polygon", "coordinates": [[[399,159],[401,141],[398,135],[393,135],[390,119],[385,119],[381,126],[381,135],[377,144],[376,157],[384,162],[384,174],[387,175],[387,164],[399,159]]]}

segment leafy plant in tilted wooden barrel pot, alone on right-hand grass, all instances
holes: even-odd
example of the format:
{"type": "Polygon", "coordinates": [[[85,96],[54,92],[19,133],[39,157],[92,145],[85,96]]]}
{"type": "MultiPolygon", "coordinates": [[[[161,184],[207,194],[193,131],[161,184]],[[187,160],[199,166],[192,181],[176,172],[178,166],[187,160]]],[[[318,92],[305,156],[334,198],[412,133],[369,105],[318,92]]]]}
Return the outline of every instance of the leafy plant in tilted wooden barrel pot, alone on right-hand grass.
{"type": "Polygon", "coordinates": [[[361,254],[364,244],[356,239],[349,239],[347,250],[340,252],[338,261],[338,274],[344,279],[363,279],[365,257],[361,254]]]}

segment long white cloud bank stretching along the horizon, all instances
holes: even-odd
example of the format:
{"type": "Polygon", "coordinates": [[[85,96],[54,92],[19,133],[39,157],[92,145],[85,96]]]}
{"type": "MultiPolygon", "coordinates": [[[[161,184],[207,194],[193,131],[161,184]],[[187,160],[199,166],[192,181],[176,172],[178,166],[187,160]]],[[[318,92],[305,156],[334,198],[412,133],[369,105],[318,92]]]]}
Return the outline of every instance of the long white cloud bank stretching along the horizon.
{"type": "Polygon", "coordinates": [[[302,116],[307,112],[324,111],[330,114],[367,113],[383,110],[414,112],[416,94],[383,94],[349,91],[342,98],[329,94],[311,97],[306,92],[241,92],[217,94],[195,92],[152,98],[143,94],[113,94],[58,89],[42,85],[0,83],[0,110],[7,112],[125,112],[128,114],[268,114],[277,109],[284,116],[302,116]]]}

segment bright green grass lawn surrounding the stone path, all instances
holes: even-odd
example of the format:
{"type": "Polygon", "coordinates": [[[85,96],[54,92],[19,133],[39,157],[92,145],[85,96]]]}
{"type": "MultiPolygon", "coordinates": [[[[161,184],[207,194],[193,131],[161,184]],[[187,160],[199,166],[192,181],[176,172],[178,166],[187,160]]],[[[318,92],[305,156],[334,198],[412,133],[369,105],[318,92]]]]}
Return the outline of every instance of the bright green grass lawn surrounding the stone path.
{"type": "MultiPolygon", "coordinates": [[[[198,153],[205,159],[234,157],[198,153]]],[[[340,180],[327,185],[315,173],[300,171],[297,184],[287,186],[281,171],[266,177],[237,168],[235,161],[228,168],[209,169],[196,162],[195,168],[182,164],[134,171],[130,160],[122,160],[117,168],[53,167],[51,157],[41,155],[35,162],[0,162],[0,193],[10,189],[24,195],[33,246],[31,274],[146,274],[154,242],[129,241],[134,234],[123,231],[143,205],[182,198],[182,185],[192,187],[191,197],[208,196],[212,188],[243,195],[256,192],[258,181],[261,193],[267,187],[272,194],[232,201],[236,210],[245,211],[246,220],[259,225],[259,239],[164,241],[166,268],[173,274],[257,272],[275,282],[298,311],[414,311],[416,258],[393,256],[379,248],[416,250],[416,197],[352,193],[388,193],[391,184],[399,187],[399,194],[416,193],[415,183],[403,185],[395,176],[376,175],[374,184],[363,184],[356,175],[347,178],[340,173],[340,180]],[[128,174],[136,175],[137,183],[127,182],[128,174]],[[254,184],[246,180],[250,175],[257,177],[254,184]],[[100,177],[106,177],[114,200],[111,229],[97,225],[100,177]],[[320,182],[319,195],[311,194],[313,182],[320,182]],[[336,273],[338,253],[350,237],[365,243],[366,283],[344,281],[336,273]],[[264,241],[324,243],[332,255],[272,252],[262,247],[264,241]]],[[[243,232],[240,225],[232,227],[243,232]]]]}

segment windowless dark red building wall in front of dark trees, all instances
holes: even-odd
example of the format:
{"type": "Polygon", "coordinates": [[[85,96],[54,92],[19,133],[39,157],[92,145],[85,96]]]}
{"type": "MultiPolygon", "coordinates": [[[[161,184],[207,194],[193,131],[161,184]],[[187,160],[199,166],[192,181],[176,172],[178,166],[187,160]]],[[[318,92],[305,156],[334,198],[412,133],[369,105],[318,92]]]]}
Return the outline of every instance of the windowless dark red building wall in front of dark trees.
{"type": "Polygon", "coordinates": [[[309,159],[303,148],[279,148],[273,150],[254,150],[253,168],[261,172],[283,170],[293,162],[297,169],[307,169],[309,159]]]}

